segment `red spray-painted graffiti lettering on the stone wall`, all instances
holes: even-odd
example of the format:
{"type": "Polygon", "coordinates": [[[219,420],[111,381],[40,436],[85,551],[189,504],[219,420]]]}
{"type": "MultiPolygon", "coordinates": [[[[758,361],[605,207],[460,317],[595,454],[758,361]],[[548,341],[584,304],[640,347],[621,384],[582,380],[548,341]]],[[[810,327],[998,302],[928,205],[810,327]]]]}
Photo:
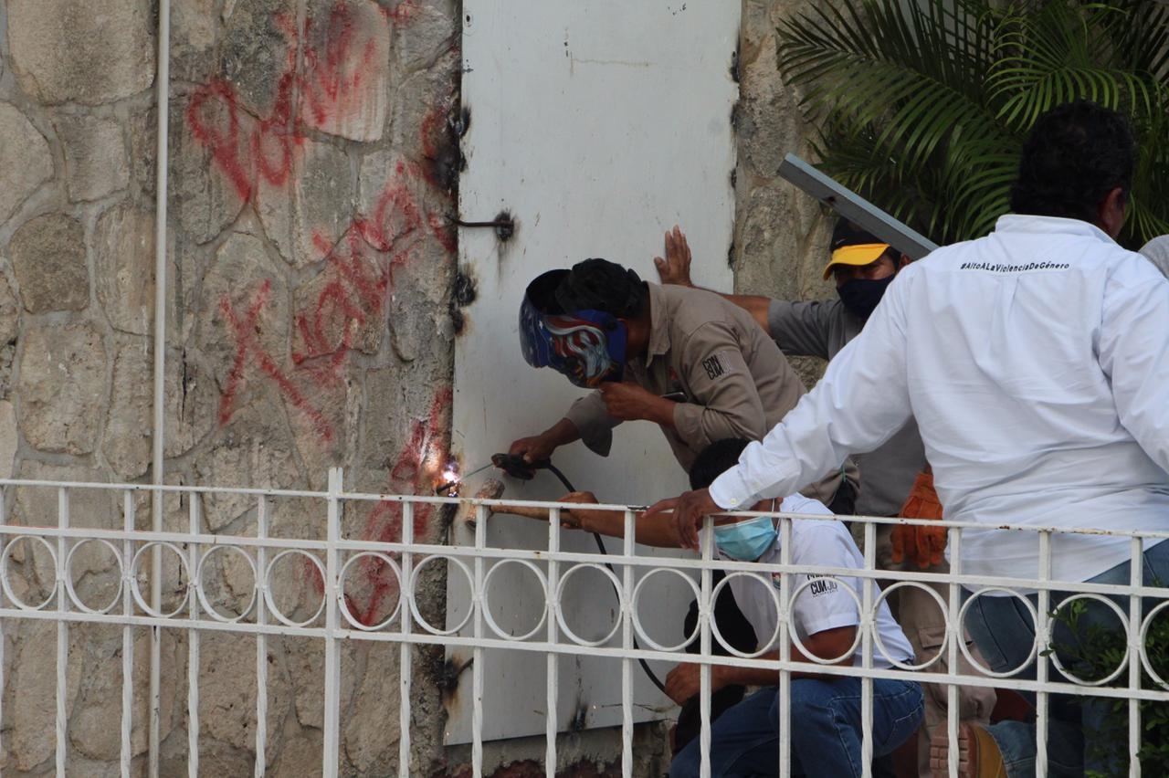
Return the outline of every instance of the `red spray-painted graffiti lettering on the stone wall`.
{"type": "MultiPolygon", "coordinates": [[[[346,117],[361,118],[367,93],[380,89],[372,75],[383,71],[379,57],[388,56],[388,34],[380,26],[403,26],[422,13],[416,0],[378,0],[386,22],[374,16],[375,23],[369,25],[369,16],[359,13],[361,8],[338,0],[323,22],[310,19],[298,26],[286,16],[275,19],[288,47],[265,116],[250,113],[236,89],[222,78],[192,93],[186,112],[192,136],[208,150],[212,166],[243,203],[253,202],[262,187],[290,185],[313,131],[344,134],[334,128],[343,126],[346,117]]],[[[457,168],[438,160],[449,151],[443,140],[450,139],[447,118],[455,95],[452,86],[437,96],[423,117],[417,146],[421,161],[403,159],[393,165],[379,196],[367,201],[366,210],[344,231],[330,230],[328,236],[313,232],[312,248],[325,264],[309,299],[296,303],[290,352],[281,355],[260,334],[272,294],[271,279],[242,296],[231,293],[219,300],[235,348],[220,397],[220,424],[227,424],[238,410],[248,381],[258,380],[275,387],[321,444],[344,438],[320,395],[344,385],[352,353],[368,348],[366,339],[386,327],[395,276],[416,261],[424,242],[434,241],[448,253],[456,250],[450,221],[427,207],[428,200],[447,203],[450,199],[448,173],[457,168]],[[334,235],[340,238],[332,239],[334,235]]],[[[268,193],[264,188],[263,196],[268,193]]],[[[449,459],[450,405],[451,389],[441,388],[426,418],[413,422],[389,463],[387,493],[431,492],[449,459]]],[[[416,536],[423,536],[431,517],[433,506],[415,506],[411,527],[416,536]]],[[[402,521],[401,503],[379,502],[369,510],[361,536],[400,540],[402,521]]],[[[347,602],[355,618],[371,624],[401,582],[388,565],[375,558],[366,562],[353,568],[351,577],[360,579],[361,586],[360,592],[347,595],[347,602]]],[[[311,562],[305,576],[321,590],[311,562]]]]}

